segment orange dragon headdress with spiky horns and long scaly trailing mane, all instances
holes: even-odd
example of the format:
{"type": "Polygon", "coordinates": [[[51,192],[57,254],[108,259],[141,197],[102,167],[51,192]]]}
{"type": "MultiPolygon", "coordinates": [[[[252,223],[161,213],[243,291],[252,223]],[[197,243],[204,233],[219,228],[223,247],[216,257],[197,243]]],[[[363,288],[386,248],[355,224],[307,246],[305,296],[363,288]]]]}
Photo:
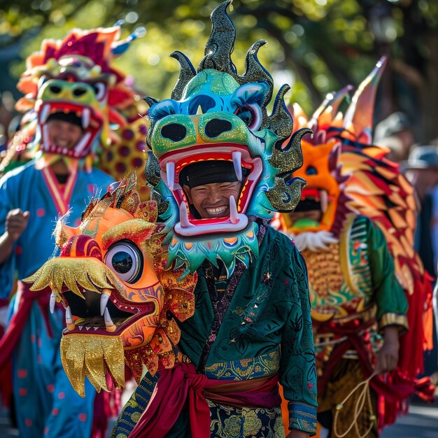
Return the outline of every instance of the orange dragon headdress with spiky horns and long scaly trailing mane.
{"type": "MultiPolygon", "coordinates": [[[[303,209],[320,210],[321,216],[318,221],[292,221],[288,215],[278,215],[276,225],[311,250],[339,241],[348,213],[367,216],[379,226],[393,256],[397,280],[407,293],[410,330],[402,339],[412,347],[424,337],[423,304],[428,302],[431,290],[414,250],[414,188],[399,165],[386,158],[389,150],[372,144],[374,99],[385,64],[385,58],[376,64],[345,114],[339,107],[351,87],[328,94],[310,120],[294,105],[295,127],[309,126],[315,133],[313,139],[302,141],[304,166],[294,175],[305,178],[308,184],[302,193],[303,209]]],[[[411,375],[416,375],[418,367],[411,359],[404,358],[403,369],[411,369],[411,375]]]]}

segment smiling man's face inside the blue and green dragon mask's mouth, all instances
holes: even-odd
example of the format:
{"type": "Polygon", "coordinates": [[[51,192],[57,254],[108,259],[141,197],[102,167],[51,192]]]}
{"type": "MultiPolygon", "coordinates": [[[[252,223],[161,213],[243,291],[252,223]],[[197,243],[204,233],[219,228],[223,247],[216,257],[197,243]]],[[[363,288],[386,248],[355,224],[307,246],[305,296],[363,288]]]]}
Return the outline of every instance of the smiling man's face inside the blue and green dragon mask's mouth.
{"type": "Polygon", "coordinates": [[[241,182],[211,183],[189,188],[184,186],[190,204],[203,219],[225,218],[229,216],[229,197],[239,200],[241,182]]]}

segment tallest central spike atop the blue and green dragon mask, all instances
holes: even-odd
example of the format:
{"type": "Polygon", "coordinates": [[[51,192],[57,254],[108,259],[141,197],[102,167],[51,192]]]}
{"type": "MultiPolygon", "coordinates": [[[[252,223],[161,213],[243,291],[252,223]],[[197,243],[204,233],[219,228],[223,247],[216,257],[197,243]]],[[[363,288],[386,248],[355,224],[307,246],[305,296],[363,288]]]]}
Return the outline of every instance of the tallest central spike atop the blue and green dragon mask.
{"type": "Polygon", "coordinates": [[[211,13],[213,27],[205,46],[205,56],[199,62],[198,73],[205,69],[216,69],[236,76],[236,66],[231,60],[236,29],[227,14],[227,7],[231,3],[232,0],[224,1],[211,13]]]}

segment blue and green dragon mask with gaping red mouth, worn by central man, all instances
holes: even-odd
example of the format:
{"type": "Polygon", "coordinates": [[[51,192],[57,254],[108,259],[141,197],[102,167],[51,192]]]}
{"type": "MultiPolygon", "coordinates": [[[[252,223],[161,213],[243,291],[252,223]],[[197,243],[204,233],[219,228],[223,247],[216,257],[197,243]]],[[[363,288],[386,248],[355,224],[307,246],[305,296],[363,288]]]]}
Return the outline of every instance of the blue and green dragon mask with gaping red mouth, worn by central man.
{"type": "Polygon", "coordinates": [[[274,81],[257,59],[265,41],[252,45],[245,73],[237,74],[229,3],[211,14],[213,28],[197,71],[183,53],[174,52],[181,72],[171,99],[145,98],[150,104],[146,178],[169,232],[169,264],[176,261],[194,272],[204,260],[222,260],[228,276],[236,260],[248,266],[258,255],[255,218],[269,220],[275,211],[295,209],[305,183],[291,175],[302,166],[301,138],[311,133],[304,128],[291,136],[292,118],[283,99],[288,85],[280,88],[267,114],[274,81]],[[205,160],[232,162],[242,182],[226,218],[195,218],[179,184],[185,166],[205,160]]]}

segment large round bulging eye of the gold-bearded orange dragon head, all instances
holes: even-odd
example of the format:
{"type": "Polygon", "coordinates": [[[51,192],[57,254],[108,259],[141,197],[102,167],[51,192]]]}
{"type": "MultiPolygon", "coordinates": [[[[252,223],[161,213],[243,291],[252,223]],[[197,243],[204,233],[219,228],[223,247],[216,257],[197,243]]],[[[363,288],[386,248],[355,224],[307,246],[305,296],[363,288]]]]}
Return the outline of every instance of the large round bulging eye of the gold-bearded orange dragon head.
{"type": "Polygon", "coordinates": [[[143,255],[131,241],[118,241],[108,248],[105,264],[120,280],[136,283],[143,272],[143,255]]]}

